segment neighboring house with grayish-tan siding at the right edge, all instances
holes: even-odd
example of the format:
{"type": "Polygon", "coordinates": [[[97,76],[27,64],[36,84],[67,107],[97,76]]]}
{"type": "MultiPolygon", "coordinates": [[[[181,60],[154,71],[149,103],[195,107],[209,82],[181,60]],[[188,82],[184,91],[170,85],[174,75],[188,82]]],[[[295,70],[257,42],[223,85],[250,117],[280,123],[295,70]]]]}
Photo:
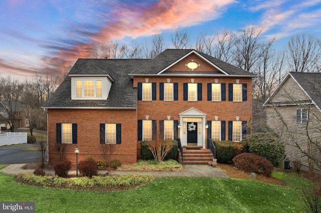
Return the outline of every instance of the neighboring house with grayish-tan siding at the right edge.
{"type": "Polygon", "coordinates": [[[321,73],[289,72],[264,106],[267,125],[283,138],[289,160],[306,170],[311,155],[320,170],[321,73]]]}

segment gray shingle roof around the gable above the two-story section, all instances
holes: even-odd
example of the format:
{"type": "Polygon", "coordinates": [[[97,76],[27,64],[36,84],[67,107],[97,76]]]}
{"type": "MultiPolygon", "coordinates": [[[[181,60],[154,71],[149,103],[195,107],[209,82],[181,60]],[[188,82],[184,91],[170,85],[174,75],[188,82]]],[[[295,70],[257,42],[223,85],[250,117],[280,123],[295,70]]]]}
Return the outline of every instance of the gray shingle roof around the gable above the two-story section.
{"type": "Polygon", "coordinates": [[[224,70],[230,75],[244,75],[244,76],[254,76],[253,73],[250,73],[248,71],[245,71],[241,68],[238,68],[236,66],[233,66],[229,63],[226,63],[222,60],[216,59],[208,54],[205,54],[203,52],[197,51],[195,49],[166,49],[161,54],[157,55],[153,59],[147,61],[142,66],[137,68],[135,71],[131,72],[131,74],[157,74],[158,72],[165,69],[167,66],[175,63],[179,59],[181,59],[186,54],[191,53],[192,51],[195,51],[199,53],[201,56],[224,70]]]}

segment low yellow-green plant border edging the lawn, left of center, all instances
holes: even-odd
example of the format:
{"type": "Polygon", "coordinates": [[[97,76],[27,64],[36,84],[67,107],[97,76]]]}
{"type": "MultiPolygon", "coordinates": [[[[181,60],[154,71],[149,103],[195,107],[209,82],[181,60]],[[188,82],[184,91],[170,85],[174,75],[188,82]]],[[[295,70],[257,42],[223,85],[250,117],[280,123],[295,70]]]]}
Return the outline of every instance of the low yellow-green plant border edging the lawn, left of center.
{"type": "Polygon", "coordinates": [[[147,174],[129,174],[126,176],[93,176],[64,178],[58,176],[38,176],[31,173],[19,173],[16,181],[27,182],[42,186],[56,186],[64,188],[95,188],[106,186],[129,186],[144,184],[153,179],[147,174]]]}

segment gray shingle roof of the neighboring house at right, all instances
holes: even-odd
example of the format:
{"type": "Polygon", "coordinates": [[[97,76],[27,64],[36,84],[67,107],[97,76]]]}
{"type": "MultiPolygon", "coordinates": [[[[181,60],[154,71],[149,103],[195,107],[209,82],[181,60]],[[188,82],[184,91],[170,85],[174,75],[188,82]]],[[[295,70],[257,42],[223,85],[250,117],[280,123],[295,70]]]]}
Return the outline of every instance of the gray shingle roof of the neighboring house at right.
{"type": "Polygon", "coordinates": [[[290,72],[290,75],[304,89],[318,108],[321,107],[321,73],[290,72]]]}

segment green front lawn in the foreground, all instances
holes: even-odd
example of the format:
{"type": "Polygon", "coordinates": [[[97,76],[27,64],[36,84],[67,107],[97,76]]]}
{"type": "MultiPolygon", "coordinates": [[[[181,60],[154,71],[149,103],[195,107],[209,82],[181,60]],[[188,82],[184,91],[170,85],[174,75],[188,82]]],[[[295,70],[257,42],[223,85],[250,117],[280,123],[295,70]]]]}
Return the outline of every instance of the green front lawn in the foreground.
{"type": "Polygon", "coordinates": [[[304,212],[299,175],[275,173],[289,183],[216,177],[158,177],[124,191],[98,192],[25,185],[0,173],[1,201],[35,201],[36,212],[304,212]]]}

